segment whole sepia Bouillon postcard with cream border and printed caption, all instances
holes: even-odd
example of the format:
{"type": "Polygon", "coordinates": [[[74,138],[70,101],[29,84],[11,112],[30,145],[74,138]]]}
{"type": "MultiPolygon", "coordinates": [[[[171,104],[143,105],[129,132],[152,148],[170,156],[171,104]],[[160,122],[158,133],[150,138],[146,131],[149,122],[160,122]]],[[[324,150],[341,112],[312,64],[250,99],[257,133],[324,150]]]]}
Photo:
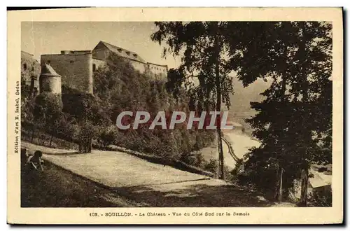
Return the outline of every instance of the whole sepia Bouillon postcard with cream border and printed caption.
{"type": "Polygon", "coordinates": [[[342,223],[342,17],[8,11],[8,223],[342,223]]]}

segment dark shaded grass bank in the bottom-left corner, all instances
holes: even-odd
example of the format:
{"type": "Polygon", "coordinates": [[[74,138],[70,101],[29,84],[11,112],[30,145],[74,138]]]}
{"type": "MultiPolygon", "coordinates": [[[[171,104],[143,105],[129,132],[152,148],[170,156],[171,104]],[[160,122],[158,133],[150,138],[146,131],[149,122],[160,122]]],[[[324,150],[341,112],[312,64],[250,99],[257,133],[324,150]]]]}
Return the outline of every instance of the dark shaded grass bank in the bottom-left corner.
{"type": "Polygon", "coordinates": [[[21,175],[21,207],[145,207],[49,162],[21,175]]]}

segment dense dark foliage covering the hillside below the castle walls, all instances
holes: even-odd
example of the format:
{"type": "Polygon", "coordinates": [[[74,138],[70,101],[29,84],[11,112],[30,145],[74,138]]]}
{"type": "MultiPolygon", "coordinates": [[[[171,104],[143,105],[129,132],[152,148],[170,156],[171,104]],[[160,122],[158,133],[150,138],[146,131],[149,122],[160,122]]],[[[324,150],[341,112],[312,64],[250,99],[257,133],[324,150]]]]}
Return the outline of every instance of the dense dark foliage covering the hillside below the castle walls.
{"type": "MultiPolygon", "coordinates": [[[[135,71],[125,59],[112,54],[106,65],[94,73],[94,96],[62,85],[62,106],[57,107],[62,112],[52,124],[52,130],[46,132],[79,144],[80,153],[90,152],[92,140],[96,139],[101,148],[115,144],[164,158],[185,158],[190,162],[186,156],[208,146],[214,140],[213,132],[188,131],[182,125],[177,125],[175,130],[157,127],[149,130],[149,124],[141,125],[137,130],[118,130],[114,125],[122,111],[133,111],[134,115],[136,111],[148,111],[151,120],[158,111],[167,111],[167,115],[172,111],[188,111],[188,98],[183,89],[175,99],[165,80],[151,77],[148,73],[135,71]]],[[[48,111],[55,105],[48,104],[46,97],[46,93],[36,97],[34,125],[43,124],[48,111]]],[[[43,127],[36,127],[36,130],[43,130],[43,127]]],[[[194,163],[200,165],[200,160],[194,163]]]]}

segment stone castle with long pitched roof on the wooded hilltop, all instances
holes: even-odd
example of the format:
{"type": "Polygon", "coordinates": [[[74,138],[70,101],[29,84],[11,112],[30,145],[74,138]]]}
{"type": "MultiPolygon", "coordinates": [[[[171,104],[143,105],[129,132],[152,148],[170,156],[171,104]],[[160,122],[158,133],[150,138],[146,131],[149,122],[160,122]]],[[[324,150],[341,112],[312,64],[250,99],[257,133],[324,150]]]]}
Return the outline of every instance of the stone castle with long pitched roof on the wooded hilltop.
{"type": "Polygon", "coordinates": [[[105,64],[111,53],[127,59],[134,69],[141,73],[149,71],[155,78],[167,78],[166,65],[146,62],[136,52],[104,41],[100,41],[93,50],[62,50],[60,54],[41,55],[41,68],[48,69],[49,65],[62,78],[62,84],[94,94],[93,73],[105,64]]]}

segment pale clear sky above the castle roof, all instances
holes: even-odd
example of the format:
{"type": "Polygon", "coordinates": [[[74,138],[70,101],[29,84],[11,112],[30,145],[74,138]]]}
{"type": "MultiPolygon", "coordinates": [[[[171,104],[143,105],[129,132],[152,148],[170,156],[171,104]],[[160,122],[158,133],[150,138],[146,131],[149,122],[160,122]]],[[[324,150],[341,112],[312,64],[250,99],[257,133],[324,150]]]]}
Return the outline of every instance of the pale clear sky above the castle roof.
{"type": "Polygon", "coordinates": [[[40,62],[61,50],[92,50],[99,41],[136,52],[146,62],[178,67],[179,58],[162,57],[162,46],[151,41],[153,22],[22,22],[21,50],[40,62]]]}

